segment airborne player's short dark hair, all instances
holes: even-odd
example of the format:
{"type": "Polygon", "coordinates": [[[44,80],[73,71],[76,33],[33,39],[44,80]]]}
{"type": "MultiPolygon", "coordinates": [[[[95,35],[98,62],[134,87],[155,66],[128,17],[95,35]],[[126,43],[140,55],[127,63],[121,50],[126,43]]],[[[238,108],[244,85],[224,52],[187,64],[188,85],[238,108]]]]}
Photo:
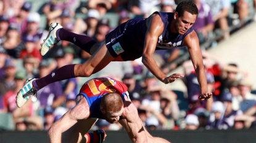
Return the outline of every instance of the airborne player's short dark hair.
{"type": "Polygon", "coordinates": [[[189,12],[192,15],[198,15],[197,6],[192,0],[181,1],[175,10],[175,12],[178,12],[179,17],[183,17],[185,11],[189,12]]]}

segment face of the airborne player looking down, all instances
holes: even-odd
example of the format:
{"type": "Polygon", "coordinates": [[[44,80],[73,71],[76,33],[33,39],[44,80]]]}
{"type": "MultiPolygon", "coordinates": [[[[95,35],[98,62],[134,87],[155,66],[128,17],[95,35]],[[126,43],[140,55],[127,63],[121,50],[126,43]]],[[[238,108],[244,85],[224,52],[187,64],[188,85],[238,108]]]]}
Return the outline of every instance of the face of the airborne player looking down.
{"type": "Polygon", "coordinates": [[[178,34],[185,34],[189,28],[195,23],[197,15],[192,15],[185,11],[183,17],[178,17],[178,13],[175,13],[175,28],[178,34]]]}

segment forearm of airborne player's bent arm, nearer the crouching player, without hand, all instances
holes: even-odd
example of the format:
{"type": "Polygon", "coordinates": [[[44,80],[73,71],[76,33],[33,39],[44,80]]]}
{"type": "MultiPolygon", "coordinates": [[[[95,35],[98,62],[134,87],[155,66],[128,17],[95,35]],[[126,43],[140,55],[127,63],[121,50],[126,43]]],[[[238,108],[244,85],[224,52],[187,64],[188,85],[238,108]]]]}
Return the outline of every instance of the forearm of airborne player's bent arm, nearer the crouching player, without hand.
{"type": "Polygon", "coordinates": [[[142,56],[142,63],[152,72],[152,74],[157,77],[161,82],[167,77],[159,68],[157,63],[152,56],[143,55],[142,56]]]}

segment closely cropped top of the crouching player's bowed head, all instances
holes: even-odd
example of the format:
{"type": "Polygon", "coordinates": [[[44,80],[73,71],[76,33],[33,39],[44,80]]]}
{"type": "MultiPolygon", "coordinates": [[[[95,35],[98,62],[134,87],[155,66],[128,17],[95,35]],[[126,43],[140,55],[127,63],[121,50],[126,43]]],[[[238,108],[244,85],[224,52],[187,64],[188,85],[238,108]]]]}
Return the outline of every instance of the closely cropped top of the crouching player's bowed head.
{"type": "Polygon", "coordinates": [[[115,113],[119,112],[123,107],[123,100],[118,93],[107,93],[102,97],[101,108],[105,112],[115,113]]]}

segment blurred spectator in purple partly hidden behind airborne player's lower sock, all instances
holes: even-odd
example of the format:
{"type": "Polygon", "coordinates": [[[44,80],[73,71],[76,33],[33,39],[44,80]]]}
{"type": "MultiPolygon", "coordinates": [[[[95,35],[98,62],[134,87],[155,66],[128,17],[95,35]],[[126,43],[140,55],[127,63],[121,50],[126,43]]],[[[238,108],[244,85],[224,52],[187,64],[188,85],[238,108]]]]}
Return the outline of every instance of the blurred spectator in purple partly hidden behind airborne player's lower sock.
{"type": "MultiPolygon", "coordinates": [[[[42,60],[39,64],[39,77],[43,77],[51,72],[49,68],[49,62],[42,60]]],[[[46,87],[42,88],[37,93],[37,98],[40,101],[41,109],[44,109],[46,106],[58,107],[65,102],[65,97],[62,96],[63,91],[60,85],[60,82],[54,82],[46,87]]]]}

